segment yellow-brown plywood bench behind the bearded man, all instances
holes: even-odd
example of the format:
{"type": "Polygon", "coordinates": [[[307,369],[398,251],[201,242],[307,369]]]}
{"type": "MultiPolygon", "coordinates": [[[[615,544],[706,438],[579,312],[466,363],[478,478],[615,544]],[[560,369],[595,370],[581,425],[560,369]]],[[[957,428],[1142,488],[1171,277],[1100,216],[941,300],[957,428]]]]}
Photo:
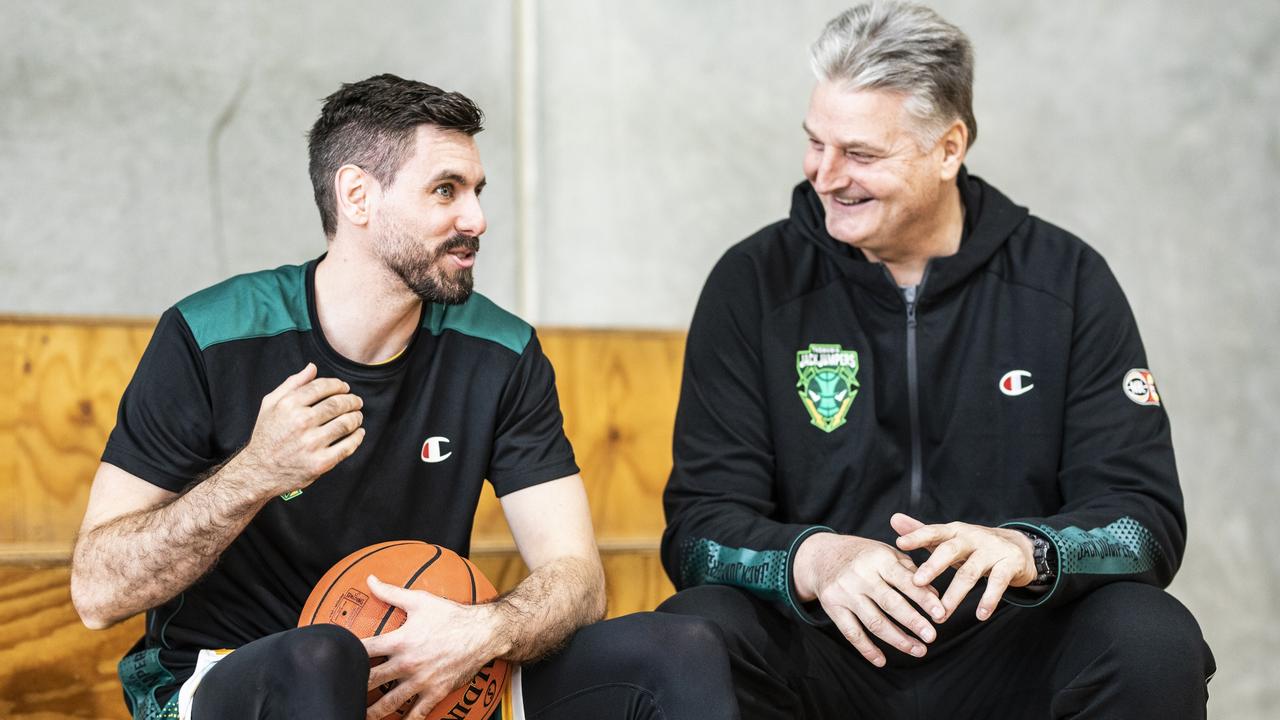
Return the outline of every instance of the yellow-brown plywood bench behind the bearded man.
{"type": "MultiPolygon", "coordinates": [[[[142,633],[70,605],[68,557],[151,319],[0,316],[0,717],[127,717],[115,662],[142,633]]],[[[653,609],[684,333],[540,329],[591,500],[609,615],[653,609]]],[[[499,589],[526,570],[492,491],[472,557],[499,589]]]]}

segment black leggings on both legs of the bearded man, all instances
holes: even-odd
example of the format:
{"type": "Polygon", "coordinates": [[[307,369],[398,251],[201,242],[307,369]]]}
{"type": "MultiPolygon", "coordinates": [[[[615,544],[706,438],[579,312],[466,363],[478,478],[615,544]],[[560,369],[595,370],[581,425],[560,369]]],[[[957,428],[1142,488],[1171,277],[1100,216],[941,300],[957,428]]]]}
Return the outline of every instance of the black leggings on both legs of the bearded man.
{"type": "MultiPolygon", "coordinates": [[[[195,720],[356,720],[365,716],[369,656],[349,632],[311,625],[253,641],[196,689],[195,720]]],[[[731,720],[737,707],[717,626],[640,612],[579,630],[522,669],[526,717],[731,720]]]]}

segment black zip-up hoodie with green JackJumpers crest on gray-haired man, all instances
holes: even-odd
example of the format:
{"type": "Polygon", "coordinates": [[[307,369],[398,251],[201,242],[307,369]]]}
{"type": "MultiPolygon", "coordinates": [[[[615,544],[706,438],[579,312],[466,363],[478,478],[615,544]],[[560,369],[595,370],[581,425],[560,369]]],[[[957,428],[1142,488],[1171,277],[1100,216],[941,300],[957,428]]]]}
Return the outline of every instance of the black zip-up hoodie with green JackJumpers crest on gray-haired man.
{"type": "Polygon", "coordinates": [[[744,587],[813,623],[795,548],[824,530],[892,544],[895,511],[1047,537],[1056,582],[1015,605],[1172,579],[1169,418],[1120,286],[1079,238],[964,170],[957,184],[960,250],[928,263],[914,302],[827,234],[808,182],[712,270],[664,493],[677,588],[744,587]]]}

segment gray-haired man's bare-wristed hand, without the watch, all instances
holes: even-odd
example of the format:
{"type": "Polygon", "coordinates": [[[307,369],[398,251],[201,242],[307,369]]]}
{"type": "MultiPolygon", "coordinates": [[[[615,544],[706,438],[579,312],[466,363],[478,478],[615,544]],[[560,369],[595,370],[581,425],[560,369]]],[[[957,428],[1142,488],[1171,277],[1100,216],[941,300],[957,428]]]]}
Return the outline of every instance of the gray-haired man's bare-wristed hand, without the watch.
{"type": "Polygon", "coordinates": [[[923,657],[924,643],[933,642],[937,632],[916,609],[924,609],[936,621],[946,618],[938,591],[911,582],[915,570],[911,559],[890,544],[835,533],[805,538],[792,564],[800,600],[817,598],[845,638],[877,667],[884,666],[884,653],[868,633],[908,655],[923,657]],[[893,621],[916,637],[908,635],[893,621]]]}

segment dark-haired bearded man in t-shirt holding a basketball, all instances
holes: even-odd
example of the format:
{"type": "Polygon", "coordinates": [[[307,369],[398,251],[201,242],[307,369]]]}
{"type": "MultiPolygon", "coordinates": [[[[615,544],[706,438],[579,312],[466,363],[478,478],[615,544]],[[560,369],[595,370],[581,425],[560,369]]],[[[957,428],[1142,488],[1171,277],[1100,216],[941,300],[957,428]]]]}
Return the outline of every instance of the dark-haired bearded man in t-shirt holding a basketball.
{"type": "MultiPolygon", "coordinates": [[[[603,573],[552,366],[532,328],[471,291],[481,120],[430,85],[343,86],[310,133],[328,252],[161,316],[72,565],[86,625],[147,612],[120,662],[134,717],[360,717],[366,688],[390,680],[369,716],[417,696],[408,716],[422,717],[492,659],[566,642],[517,675],[506,712],[705,717],[692,679],[727,687],[704,621],[644,614],[570,639],[603,615],[603,573]],[[530,568],[511,593],[463,606],[371,582],[407,611],[398,630],[362,644],[294,628],[316,580],[360,547],[466,555],[485,479],[530,568]]],[[[716,714],[733,716],[731,694],[716,714]]]]}

